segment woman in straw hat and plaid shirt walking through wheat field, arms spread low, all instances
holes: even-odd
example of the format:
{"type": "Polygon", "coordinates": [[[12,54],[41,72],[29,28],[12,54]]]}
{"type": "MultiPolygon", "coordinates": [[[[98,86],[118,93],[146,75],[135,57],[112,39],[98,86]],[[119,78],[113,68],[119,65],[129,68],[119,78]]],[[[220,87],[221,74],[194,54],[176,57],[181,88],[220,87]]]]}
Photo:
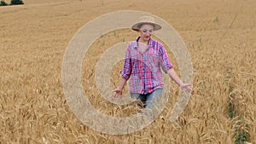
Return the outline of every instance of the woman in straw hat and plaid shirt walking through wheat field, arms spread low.
{"type": "Polygon", "coordinates": [[[154,22],[154,18],[143,16],[131,28],[139,32],[140,36],[136,41],[129,43],[126,49],[122,78],[119,87],[113,89],[115,97],[122,95],[125,84],[130,79],[131,97],[139,99],[145,104],[144,108],[152,110],[154,100],[160,100],[164,88],[160,66],[181,89],[191,93],[191,84],[183,84],[178,78],[163,44],[151,37],[152,32],[161,29],[161,26],[154,22]]]}

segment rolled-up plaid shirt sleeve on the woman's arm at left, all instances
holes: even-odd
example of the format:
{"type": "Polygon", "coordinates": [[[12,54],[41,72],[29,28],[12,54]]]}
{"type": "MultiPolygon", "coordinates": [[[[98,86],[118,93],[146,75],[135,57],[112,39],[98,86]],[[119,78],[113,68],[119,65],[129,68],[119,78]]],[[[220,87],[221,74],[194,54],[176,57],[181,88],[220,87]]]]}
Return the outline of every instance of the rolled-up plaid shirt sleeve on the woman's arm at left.
{"type": "Polygon", "coordinates": [[[123,67],[123,71],[120,73],[123,78],[128,80],[131,76],[131,44],[127,46],[125,53],[125,63],[123,67]]]}

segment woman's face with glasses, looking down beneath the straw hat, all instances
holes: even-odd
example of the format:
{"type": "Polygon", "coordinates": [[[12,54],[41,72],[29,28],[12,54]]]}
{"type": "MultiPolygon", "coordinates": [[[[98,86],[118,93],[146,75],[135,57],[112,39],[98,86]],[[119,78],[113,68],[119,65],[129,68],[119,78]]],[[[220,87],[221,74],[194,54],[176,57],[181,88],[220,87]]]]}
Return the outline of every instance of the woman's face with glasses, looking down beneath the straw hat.
{"type": "Polygon", "coordinates": [[[140,33],[141,33],[141,38],[144,42],[148,42],[149,38],[152,35],[152,32],[154,31],[154,26],[149,25],[149,24],[144,24],[141,28],[140,28],[140,33]]]}

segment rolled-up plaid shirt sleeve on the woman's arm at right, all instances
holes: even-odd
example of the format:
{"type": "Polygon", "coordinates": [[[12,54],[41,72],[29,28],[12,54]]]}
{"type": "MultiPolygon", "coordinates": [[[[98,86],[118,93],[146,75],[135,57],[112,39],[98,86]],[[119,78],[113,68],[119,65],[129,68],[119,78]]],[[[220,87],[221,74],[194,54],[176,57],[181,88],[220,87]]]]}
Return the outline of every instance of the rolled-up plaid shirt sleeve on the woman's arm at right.
{"type": "Polygon", "coordinates": [[[170,68],[172,68],[172,63],[170,62],[166,49],[162,44],[160,44],[160,63],[164,72],[167,72],[170,68]]]}

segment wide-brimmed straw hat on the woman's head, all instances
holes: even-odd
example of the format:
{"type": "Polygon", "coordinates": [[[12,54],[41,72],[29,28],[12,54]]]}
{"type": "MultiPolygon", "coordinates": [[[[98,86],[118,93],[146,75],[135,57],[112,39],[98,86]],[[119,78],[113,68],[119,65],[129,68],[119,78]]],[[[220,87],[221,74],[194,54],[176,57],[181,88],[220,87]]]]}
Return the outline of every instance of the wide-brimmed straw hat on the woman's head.
{"type": "Polygon", "coordinates": [[[154,22],[154,18],[152,16],[142,16],[140,17],[139,21],[135,23],[133,26],[131,26],[131,29],[134,31],[137,31],[140,29],[139,26],[142,26],[143,24],[151,24],[154,26],[154,31],[160,30],[162,27],[154,22]]]}

